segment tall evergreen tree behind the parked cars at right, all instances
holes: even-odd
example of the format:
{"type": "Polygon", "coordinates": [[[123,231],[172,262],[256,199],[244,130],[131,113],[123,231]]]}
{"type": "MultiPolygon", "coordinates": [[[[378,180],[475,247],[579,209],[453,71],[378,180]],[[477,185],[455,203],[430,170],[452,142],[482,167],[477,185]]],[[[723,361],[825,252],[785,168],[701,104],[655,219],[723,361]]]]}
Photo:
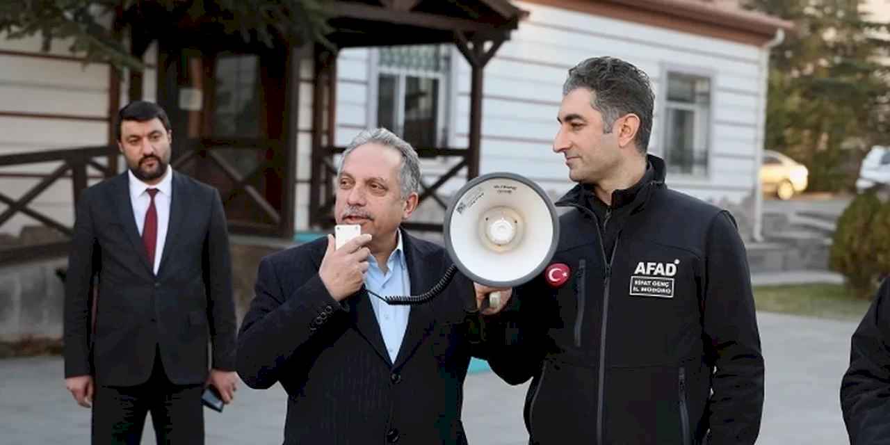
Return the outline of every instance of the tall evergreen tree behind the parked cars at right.
{"type": "Polygon", "coordinates": [[[850,190],[862,157],[887,140],[884,25],[856,0],[748,0],[796,29],[770,56],[765,145],[804,163],[810,190],[850,190]]]}

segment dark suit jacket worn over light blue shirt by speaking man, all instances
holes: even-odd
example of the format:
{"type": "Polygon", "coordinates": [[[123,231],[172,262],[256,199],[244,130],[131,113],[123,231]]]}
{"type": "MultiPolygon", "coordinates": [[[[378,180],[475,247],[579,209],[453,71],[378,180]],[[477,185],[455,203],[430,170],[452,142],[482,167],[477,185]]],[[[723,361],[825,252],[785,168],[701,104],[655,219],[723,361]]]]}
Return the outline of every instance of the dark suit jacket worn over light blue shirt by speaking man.
{"type": "MultiPolygon", "coordinates": [[[[451,264],[444,249],[402,232],[412,295],[451,264]]],[[[364,291],[336,302],[319,277],[327,239],[263,258],[239,332],[238,370],[252,388],[287,391],[285,443],[465,443],[460,413],[478,343],[473,285],[457,274],[411,307],[395,363],[364,291]]]]}

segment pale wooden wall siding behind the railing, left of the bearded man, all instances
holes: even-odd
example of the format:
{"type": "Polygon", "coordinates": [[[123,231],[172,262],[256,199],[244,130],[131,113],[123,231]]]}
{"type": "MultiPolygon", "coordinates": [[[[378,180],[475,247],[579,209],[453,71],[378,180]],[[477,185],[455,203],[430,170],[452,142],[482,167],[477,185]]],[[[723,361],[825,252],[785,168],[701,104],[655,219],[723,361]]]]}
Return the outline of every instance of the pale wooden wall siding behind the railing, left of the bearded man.
{"type": "MultiPolygon", "coordinates": [[[[68,51],[69,42],[56,41],[49,53],[40,51],[40,39],[9,40],[0,35],[0,155],[101,145],[109,142],[110,69],[107,64],[84,65],[78,54],[68,51]]],[[[145,99],[156,91],[157,45],[152,45],[145,61],[150,64],[143,77],[145,99]]],[[[128,87],[121,82],[119,103],[123,106],[128,87]]],[[[116,115],[115,115],[116,116],[116,115]]],[[[104,160],[98,160],[105,165],[104,160]]],[[[34,174],[47,174],[60,166],[47,162],[0,168],[0,190],[12,198],[40,181],[34,174]],[[14,174],[20,177],[4,177],[14,174]],[[26,177],[21,177],[26,176],[26,177]]],[[[122,158],[119,168],[124,168],[122,158]]],[[[93,184],[99,180],[90,180],[93,184]]],[[[74,222],[70,179],[62,179],[44,190],[32,203],[38,212],[60,223],[74,222]]],[[[6,206],[0,203],[0,212],[6,206]]],[[[4,227],[4,233],[18,235],[21,228],[36,223],[17,214],[4,227]]]]}

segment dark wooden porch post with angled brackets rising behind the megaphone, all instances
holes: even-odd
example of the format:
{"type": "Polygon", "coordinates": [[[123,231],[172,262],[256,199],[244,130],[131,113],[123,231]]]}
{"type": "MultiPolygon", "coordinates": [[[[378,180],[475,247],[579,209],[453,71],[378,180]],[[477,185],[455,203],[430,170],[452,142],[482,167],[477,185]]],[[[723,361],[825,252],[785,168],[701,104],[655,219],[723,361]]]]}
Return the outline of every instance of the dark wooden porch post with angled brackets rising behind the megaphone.
{"type": "Polygon", "coordinates": [[[491,57],[498,52],[500,45],[504,43],[504,37],[489,40],[481,36],[473,36],[468,39],[462,31],[455,31],[455,44],[460,53],[464,54],[466,61],[473,69],[470,85],[470,134],[467,154],[467,179],[479,176],[479,159],[482,139],[482,79],[485,65],[491,57]],[[485,49],[485,42],[490,41],[491,46],[485,49]]]}

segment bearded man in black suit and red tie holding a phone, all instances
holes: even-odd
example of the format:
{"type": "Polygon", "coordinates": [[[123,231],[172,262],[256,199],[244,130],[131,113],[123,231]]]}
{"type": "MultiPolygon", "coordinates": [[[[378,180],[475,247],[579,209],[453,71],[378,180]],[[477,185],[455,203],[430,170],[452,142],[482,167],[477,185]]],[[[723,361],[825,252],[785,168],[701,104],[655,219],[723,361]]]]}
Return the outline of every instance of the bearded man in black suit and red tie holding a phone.
{"type": "Polygon", "coordinates": [[[158,443],[203,443],[205,385],[226,402],[235,390],[223,204],[216,190],[168,166],[172,141],[163,109],[131,102],[117,126],[127,172],[85,190],[77,203],[65,279],[65,384],[77,403],[93,407],[93,443],[139,443],[149,411],[158,443]]]}

